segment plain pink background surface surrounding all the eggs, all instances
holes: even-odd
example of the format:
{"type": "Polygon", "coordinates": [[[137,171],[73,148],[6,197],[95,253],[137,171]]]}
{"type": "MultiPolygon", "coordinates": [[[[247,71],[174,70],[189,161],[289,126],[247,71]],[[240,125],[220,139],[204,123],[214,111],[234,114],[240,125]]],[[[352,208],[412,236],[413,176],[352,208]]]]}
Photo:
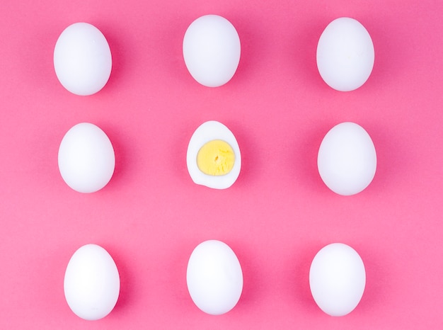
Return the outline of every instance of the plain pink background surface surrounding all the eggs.
{"type": "Polygon", "coordinates": [[[443,1],[1,1],[1,329],[437,329],[443,326],[443,1]],[[241,38],[234,79],[192,79],[181,45],[197,17],[217,13],[241,38]],[[362,88],[330,89],[316,43],[334,18],[372,35],[374,71],[362,88]],[[96,25],[113,72],[81,97],[54,74],[59,34],[96,25]],[[192,183],[185,153],[206,120],[227,125],[243,167],[227,190],[192,183]],[[372,184],[335,195],[316,154],[338,123],[362,125],[376,146],[372,184]],[[59,175],[69,128],[90,122],[115,147],[115,174],[81,194],[59,175]],[[190,300],[192,249],[220,239],[236,252],[244,288],[219,317],[190,300]],[[321,312],[309,266],[326,244],[354,247],[367,287],[346,317],[321,312]],[[96,243],[120,271],[120,299],[97,322],[64,300],[64,271],[96,243]]]}

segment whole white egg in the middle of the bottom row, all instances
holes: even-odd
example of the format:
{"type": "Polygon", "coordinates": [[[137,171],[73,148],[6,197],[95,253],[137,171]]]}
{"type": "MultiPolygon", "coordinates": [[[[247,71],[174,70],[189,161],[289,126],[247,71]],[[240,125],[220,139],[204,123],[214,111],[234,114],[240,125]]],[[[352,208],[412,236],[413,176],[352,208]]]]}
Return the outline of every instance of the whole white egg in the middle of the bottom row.
{"type": "Polygon", "coordinates": [[[243,273],[227,244],[209,240],[192,251],[186,282],[195,305],[207,314],[219,315],[233,309],[240,299],[243,273]]]}

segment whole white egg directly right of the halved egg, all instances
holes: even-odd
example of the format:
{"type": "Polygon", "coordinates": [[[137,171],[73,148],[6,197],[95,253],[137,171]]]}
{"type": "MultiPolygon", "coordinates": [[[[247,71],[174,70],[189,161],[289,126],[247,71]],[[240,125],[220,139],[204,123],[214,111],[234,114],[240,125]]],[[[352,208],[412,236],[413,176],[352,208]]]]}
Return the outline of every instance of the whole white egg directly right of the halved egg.
{"type": "Polygon", "coordinates": [[[375,176],[374,143],[360,125],[340,123],[323,138],[317,165],[330,190],[339,195],[355,195],[369,186],[375,176]]]}

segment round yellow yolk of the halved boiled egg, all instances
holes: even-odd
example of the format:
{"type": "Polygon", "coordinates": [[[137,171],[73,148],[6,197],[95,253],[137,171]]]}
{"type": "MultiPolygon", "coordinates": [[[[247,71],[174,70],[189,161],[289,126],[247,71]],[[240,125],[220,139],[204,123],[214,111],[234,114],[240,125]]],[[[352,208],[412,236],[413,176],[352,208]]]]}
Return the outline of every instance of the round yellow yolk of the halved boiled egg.
{"type": "Polygon", "coordinates": [[[222,140],[212,140],[200,148],[197,166],[209,176],[224,176],[234,167],[236,160],[232,147],[222,140]]]}

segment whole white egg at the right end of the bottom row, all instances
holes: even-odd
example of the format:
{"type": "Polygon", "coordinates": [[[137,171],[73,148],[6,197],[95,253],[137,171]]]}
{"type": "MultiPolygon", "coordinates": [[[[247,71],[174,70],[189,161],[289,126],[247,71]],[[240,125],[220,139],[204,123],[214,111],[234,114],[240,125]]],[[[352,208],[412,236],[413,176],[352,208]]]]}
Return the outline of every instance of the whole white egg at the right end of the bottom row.
{"type": "Polygon", "coordinates": [[[333,317],[349,314],[362,299],[366,285],[362,258],[346,244],[323,247],[311,263],[309,285],[323,312],[333,317]]]}

